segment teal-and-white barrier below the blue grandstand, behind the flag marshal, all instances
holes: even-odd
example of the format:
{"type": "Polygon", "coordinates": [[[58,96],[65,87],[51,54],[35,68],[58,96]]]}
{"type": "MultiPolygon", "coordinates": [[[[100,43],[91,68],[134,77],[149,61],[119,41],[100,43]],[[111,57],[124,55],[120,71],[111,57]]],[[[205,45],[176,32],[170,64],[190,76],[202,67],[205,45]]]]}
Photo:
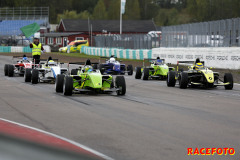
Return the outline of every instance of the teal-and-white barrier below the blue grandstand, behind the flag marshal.
{"type": "MultiPolygon", "coordinates": [[[[46,52],[51,52],[50,46],[43,46],[46,52]]],[[[21,46],[0,46],[0,52],[4,53],[31,53],[32,49],[30,47],[21,47],[21,46]]]]}

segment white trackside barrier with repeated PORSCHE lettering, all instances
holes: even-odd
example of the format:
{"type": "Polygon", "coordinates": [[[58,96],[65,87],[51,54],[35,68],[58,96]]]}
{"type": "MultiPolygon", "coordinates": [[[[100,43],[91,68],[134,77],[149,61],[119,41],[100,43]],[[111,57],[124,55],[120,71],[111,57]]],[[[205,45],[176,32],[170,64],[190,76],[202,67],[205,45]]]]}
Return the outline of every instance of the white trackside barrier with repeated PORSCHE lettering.
{"type": "Polygon", "coordinates": [[[240,48],[155,48],[152,58],[160,57],[167,63],[176,64],[177,61],[195,61],[200,58],[208,67],[223,69],[240,69],[240,48]]]}

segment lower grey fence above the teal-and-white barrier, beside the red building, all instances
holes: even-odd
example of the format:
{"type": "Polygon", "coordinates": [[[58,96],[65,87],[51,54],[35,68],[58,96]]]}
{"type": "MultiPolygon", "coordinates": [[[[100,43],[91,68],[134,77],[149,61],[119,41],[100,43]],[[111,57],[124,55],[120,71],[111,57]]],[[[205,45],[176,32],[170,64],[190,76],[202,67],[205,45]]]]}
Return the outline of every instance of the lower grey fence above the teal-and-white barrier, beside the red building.
{"type": "Polygon", "coordinates": [[[94,37],[96,47],[121,49],[152,49],[160,47],[159,34],[100,35],[94,37]]]}

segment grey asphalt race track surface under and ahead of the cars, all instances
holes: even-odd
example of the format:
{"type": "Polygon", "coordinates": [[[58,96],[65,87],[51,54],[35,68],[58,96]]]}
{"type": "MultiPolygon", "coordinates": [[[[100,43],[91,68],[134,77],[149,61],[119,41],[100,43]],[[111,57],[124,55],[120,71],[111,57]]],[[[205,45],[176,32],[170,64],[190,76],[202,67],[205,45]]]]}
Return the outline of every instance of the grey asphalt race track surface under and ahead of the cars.
{"type": "Polygon", "coordinates": [[[5,77],[0,56],[0,118],[66,137],[117,160],[240,158],[240,86],[168,88],[126,76],[125,96],[55,93],[53,84],[5,77]],[[234,148],[235,156],[188,156],[187,148],[234,148]]]}

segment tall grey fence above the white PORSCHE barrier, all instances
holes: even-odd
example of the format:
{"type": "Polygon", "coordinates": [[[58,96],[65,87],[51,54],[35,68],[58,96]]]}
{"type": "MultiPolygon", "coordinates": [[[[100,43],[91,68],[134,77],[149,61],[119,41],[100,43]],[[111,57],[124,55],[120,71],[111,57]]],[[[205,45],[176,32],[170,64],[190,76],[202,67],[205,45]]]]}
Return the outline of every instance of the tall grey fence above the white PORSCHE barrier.
{"type": "Polygon", "coordinates": [[[161,47],[240,46],[240,18],[162,27],[161,47]]]}

